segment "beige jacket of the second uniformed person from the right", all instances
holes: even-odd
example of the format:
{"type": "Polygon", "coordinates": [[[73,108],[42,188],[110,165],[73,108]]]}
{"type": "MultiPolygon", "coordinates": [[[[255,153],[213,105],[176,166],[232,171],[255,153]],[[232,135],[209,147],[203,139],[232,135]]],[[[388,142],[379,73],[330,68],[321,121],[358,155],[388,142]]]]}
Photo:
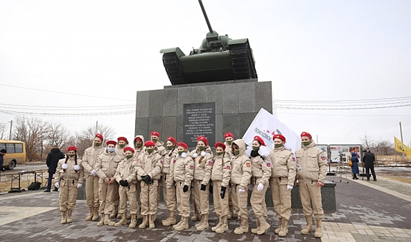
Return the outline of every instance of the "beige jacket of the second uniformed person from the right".
{"type": "Polygon", "coordinates": [[[271,177],[288,178],[288,184],[294,186],[296,162],[291,151],[284,147],[274,148],[270,151],[271,177]]]}

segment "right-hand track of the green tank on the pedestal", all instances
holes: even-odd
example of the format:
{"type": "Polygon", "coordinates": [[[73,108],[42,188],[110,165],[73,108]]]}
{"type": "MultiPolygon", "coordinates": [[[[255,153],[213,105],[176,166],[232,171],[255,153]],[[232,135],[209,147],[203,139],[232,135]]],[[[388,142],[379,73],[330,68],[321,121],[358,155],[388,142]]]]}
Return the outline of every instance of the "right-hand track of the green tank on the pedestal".
{"type": "Polygon", "coordinates": [[[230,46],[231,66],[236,80],[256,78],[248,43],[230,46]]]}

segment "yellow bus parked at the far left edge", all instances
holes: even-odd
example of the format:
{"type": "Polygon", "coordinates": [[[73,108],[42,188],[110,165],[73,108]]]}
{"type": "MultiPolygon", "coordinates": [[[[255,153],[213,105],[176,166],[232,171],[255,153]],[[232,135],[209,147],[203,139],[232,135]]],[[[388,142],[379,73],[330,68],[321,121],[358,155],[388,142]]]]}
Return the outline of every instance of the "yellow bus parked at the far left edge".
{"type": "Polygon", "coordinates": [[[17,164],[26,162],[26,144],[17,140],[0,140],[0,149],[6,149],[3,167],[15,169],[17,164]]]}

